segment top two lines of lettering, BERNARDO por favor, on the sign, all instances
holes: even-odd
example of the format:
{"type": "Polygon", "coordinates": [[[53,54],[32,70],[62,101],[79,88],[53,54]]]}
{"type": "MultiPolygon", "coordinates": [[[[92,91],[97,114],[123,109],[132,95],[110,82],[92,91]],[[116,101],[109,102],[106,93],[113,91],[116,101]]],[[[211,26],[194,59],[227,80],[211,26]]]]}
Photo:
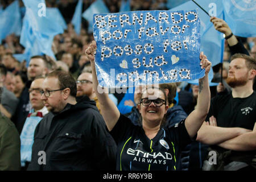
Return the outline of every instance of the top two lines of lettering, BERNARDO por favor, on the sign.
{"type": "MultiPolygon", "coordinates": [[[[110,14],[110,15],[96,15],[94,16],[97,28],[106,28],[107,30],[101,31],[101,41],[106,44],[107,40],[115,39],[115,40],[121,40],[126,39],[128,34],[134,34],[137,36],[136,38],[141,39],[142,34],[148,36],[148,37],[154,37],[158,35],[165,35],[167,32],[169,34],[184,34],[185,28],[188,28],[188,24],[183,24],[182,27],[177,25],[178,23],[181,23],[183,20],[187,21],[188,23],[195,22],[198,18],[197,14],[194,11],[188,11],[183,14],[174,12],[168,14],[168,11],[161,12],[159,11],[159,14],[156,14],[156,18],[148,12],[146,14],[146,18],[144,18],[144,14],[141,13],[138,17],[137,13],[132,14],[132,21],[130,20],[129,14],[110,14]],[[148,22],[153,21],[155,24],[159,24],[159,30],[156,30],[156,27],[154,24],[152,24],[152,27],[145,28],[148,22]],[[131,27],[131,29],[124,29],[121,30],[115,30],[113,33],[110,31],[110,28],[115,27],[131,27]],[[137,26],[141,26],[140,28],[137,28],[137,26]],[[135,32],[134,32],[135,30],[135,32]]],[[[168,34],[167,34],[168,35],[168,34]]]]}

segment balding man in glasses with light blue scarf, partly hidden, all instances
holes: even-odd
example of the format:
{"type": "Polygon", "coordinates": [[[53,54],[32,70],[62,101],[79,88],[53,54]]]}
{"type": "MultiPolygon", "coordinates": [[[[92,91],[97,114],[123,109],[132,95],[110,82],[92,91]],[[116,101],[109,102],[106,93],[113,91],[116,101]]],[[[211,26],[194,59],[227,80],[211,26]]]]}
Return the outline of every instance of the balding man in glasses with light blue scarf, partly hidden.
{"type": "Polygon", "coordinates": [[[21,169],[26,170],[28,164],[31,162],[32,144],[34,143],[34,132],[38,123],[42,120],[44,115],[48,113],[46,106],[44,106],[41,100],[40,91],[42,90],[42,84],[44,77],[36,77],[32,81],[30,89],[30,103],[32,109],[27,115],[24,123],[22,133],[20,134],[20,161],[21,169]]]}

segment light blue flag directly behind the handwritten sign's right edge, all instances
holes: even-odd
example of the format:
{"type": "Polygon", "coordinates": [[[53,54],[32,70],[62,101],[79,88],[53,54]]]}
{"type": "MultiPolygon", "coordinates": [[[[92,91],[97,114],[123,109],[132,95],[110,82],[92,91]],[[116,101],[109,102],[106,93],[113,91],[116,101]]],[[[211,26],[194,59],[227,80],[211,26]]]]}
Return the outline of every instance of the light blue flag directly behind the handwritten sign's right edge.
{"type": "MultiPolygon", "coordinates": [[[[223,7],[221,0],[197,0],[196,1],[209,15],[224,19],[223,7]]],[[[176,10],[192,10],[197,9],[201,23],[201,51],[212,62],[212,66],[222,63],[224,53],[224,37],[221,32],[215,30],[213,23],[210,22],[209,16],[201,10],[194,2],[189,1],[180,6],[171,9],[176,10]]]]}

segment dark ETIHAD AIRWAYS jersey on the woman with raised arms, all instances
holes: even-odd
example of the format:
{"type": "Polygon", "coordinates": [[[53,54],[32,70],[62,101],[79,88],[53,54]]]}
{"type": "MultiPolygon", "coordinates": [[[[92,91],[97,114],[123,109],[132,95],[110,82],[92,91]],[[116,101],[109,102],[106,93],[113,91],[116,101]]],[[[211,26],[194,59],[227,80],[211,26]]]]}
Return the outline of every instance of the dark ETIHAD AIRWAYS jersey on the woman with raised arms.
{"type": "Polygon", "coordinates": [[[141,126],[121,115],[110,132],[117,142],[117,170],[120,171],[171,171],[180,164],[180,152],[191,143],[185,121],[170,129],[161,128],[149,139],[141,126]]]}

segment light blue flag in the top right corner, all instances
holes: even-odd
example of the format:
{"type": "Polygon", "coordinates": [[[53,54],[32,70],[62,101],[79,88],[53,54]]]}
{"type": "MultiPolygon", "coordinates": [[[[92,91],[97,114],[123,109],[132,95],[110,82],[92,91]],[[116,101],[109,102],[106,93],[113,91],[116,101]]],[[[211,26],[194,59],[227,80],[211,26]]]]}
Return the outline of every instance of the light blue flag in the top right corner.
{"type": "Polygon", "coordinates": [[[225,21],[234,35],[256,37],[256,1],[225,0],[225,21]]]}

